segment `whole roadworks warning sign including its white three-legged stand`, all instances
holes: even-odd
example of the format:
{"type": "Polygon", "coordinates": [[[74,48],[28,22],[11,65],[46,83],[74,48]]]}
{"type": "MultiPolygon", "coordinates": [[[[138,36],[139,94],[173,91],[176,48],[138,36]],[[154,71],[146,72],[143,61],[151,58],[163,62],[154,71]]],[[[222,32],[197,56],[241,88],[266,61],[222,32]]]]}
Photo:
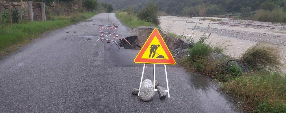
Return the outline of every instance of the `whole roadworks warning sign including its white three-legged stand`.
{"type": "Polygon", "coordinates": [[[168,98],[170,98],[170,90],[169,90],[166,64],[174,65],[174,64],[176,64],[176,61],[174,60],[170,50],[168,49],[166,43],[164,42],[161,34],[158,31],[158,29],[154,29],[153,32],[150,34],[150,36],[148,37],[148,39],[144,43],[143,47],[141,48],[141,50],[139,51],[139,53],[135,57],[134,62],[135,63],[144,63],[143,71],[142,71],[142,75],[141,75],[141,80],[140,80],[138,96],[140,95],[140,91],[141,91],[141,85],[142,85],[142,80],[143,80],[143,75],[144,75],[146,63],[147,64],[154,64],[153,87],[154,87],[154,91],[156,91],[156,92],[158,91],[158,89],[155,89],[156,64],[164,64],[166,84],[167,84],[167,89],[165,89],[165,92],[168,92],[168,98]],[[148,51],[147,49],[148,50],[150,49],[150,51],[148,51]],[[153,53],[153,56],[151,57],[152,53],[153,53]],[[157,55],[157,57],[155,57],[155,55],[157,55]]]}

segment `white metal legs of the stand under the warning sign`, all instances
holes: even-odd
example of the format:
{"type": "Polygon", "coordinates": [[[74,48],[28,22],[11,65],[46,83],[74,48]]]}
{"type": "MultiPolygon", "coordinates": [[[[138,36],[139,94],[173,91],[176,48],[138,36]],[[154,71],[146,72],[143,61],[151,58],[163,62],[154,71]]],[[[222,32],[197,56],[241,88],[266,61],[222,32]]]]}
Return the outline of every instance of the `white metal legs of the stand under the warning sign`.
{"type": "MultiPolygon", "coordinates": [[[[140,90],[141,90],[141,85],[142,85],[142,80],[143,80],[145,66],[146,66],[146,64],[143,65],[143,71],[142,71],[142,75],[141,75],[141,81],[140,81],[138,96],[140,95],[140,90]]],[[[167,89],[165,90],[165,92],[168,92],[168,98],[170,98],[170,91],[169,91],[169,84],[168,84],[168,76],[167,76],[166,64],[164,64],[164,68],[165,68],[166,83],[167,83],[167,89]]],[[[155,70],[156,70],[156,64],[154,64],[154,68],[153,68],[153,87],[154,87],[154,91],[157,92],[158,89],[155,89],[155,70]]]]}

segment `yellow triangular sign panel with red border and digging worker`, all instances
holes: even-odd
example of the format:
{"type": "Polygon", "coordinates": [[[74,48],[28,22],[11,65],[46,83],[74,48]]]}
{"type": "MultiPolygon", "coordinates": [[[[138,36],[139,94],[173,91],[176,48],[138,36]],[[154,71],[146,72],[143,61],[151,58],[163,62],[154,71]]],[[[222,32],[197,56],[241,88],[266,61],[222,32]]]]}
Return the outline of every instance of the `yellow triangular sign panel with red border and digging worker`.
{"type": "Polygon", "coordinates": [[[176,64],[158,29],[154,29],[134,59],[135,63],[176,64]]]}

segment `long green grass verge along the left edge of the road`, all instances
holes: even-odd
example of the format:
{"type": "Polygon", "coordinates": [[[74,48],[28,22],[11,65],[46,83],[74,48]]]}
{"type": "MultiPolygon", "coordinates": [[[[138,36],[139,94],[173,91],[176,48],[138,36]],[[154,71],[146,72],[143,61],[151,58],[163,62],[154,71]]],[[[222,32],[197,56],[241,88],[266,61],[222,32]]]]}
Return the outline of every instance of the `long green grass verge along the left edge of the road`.
{"type": "Polygon", "coordinates": [[[5,26],[0,29],[0,56],[15,51],[45,32],[77,23],[95,14],[87,12],[71,16],[54,16],[52,21],[33,21],[5,26]]]}

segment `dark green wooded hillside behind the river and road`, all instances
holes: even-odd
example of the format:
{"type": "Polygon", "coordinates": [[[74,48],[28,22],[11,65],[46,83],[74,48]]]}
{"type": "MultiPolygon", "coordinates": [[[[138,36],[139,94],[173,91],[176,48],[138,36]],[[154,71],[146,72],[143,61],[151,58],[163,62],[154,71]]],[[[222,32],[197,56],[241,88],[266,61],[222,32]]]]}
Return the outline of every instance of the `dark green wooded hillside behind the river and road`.
{"type": "MultiPolygon", "coordinates": [[[[99,0],[110,3],[115,10],[131,6],[140,10],[149,0],[99,0]]],[[[203,16],[222,13],[251,12],[259,9],[272,11],[286,10],[286,0],[151,0],[159,5],[159,10],[169,15],[203,16]]]]}

